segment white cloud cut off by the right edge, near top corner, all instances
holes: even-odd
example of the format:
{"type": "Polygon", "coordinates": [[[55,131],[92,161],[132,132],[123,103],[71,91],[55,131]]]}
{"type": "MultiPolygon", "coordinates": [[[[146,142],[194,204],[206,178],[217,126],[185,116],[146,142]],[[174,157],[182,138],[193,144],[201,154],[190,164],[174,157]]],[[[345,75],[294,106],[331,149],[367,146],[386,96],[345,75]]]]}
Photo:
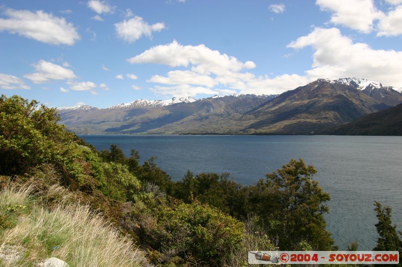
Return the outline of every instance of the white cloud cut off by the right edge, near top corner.
{"type": "MultiPolygon", "coordinates": [[[[400,1],[402,3],[402,1],[400,1]]],[[[378,23],[377,36],[398,36],[402,34],[402,6],[391,10],[378,23]]]]}

